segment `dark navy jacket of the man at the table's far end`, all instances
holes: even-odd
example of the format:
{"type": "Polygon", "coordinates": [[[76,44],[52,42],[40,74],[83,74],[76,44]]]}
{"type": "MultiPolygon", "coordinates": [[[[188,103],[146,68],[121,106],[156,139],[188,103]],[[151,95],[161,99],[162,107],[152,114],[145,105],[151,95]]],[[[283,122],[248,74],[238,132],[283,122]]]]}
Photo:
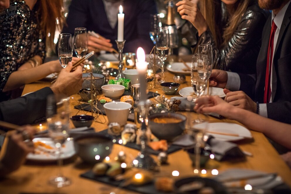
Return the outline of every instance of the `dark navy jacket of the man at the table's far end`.
{"type": "MultiPolygon", "coordinates": [[[[150,14],[156,14],[157,9],[154,0],[124,0],[124,53],[136,53],[138,47],[143,47],[146,53],[150,53],[154,44],[150,40],[150,14]]],[[[117,18],[116,13],[116,18],[117,18]]],[[[72,0],[67,18],[67,26],[62,33],[74,34],[77,27],[87,28],[87,31],[95,31],[101,36],[111,40],[113,47],[117,49],[117,23],[111,28],[102,0],[72,0]]]]}

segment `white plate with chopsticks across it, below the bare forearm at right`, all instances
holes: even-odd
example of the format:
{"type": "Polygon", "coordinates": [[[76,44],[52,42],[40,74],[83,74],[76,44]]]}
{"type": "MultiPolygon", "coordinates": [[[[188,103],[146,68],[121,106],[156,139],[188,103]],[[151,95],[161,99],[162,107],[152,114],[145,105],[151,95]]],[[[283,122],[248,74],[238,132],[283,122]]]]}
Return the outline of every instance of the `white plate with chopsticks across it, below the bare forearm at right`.
{"type": "Polygon", "coordinates": [[[235,123],[201,123],[194,126],[197,129],[206,129],[207,131],[238,134],[239,136],[220,135],[208,133],[220,141],[238,141],[245,138],[252,138],[251,131],[246,127],[235,123]]]}

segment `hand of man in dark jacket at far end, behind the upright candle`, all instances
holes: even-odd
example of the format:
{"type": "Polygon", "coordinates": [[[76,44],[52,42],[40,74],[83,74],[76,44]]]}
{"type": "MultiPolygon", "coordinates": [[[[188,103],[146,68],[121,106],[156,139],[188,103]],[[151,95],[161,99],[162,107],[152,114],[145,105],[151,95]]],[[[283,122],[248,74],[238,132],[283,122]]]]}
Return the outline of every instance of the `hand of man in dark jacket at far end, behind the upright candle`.
{"type": "Polygon", "coordinates": [[[106,50],[110,53],[113,52],[112,44],[109,39],[104,37],[88,36],[88,51],[100,52],[100,50],[106,50]]]}

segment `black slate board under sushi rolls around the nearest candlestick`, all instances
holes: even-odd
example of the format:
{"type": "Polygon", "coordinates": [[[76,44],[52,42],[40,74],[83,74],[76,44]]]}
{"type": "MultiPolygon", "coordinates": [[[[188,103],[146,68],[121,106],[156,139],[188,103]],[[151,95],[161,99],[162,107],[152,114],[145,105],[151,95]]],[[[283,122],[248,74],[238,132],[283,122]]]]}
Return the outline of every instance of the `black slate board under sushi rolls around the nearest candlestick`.
{"type": "MultiPolygon", "coordinates": [[[[98,133],[108,134],[108,129],[105,129],[103,131],[99,131],[98,133]]],[[[116,142],[115,142],[116,144],[119,144],[118,143],[119,139],[121,139],[121,136],[117,136],[116,137],[116,142]]],[[[129,143],[125,144],[124,146],[132,148],[132,149],[136,149],[136,150],[141,150],[141,146],[140,145],[136,145],[135,142],[133,142],[133,143],[129,142],[129,143]]],[[[170,154],[170,153],[173,153],[173,152],[178,151],[180,149],[182,149],[180,146],[170,145],[168,147],[167,153],[170,154]]],[[[161,151],[155,151],[155,150],[151,149],[148,146],[147,146],[147,151],[148,151],[148,153],[153,154],[153,155],[158,155],[161,152],[161,151]]]]}

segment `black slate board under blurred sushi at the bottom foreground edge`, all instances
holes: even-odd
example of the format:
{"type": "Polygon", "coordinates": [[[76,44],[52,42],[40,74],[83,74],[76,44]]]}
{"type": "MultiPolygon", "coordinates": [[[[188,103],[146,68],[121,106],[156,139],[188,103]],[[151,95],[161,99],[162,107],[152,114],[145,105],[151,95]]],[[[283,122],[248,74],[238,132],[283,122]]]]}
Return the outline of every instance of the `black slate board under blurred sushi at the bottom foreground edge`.
{"type": "MultiPolygon", "coordinates": [[[[120,188],[125,188],[128,190],[132,190],[138,193],[144,193],[144,194],[165,194],[162,192],[159,192],[155,189],[155,185],[154,183],[148,183],[146,185],[141,185],[141,186],[135,186],[135,185],[127,185],[127,186],[122,186],[122,182],[123,181],[117,181],[117,180],[113,180],[112,178],[108,177],[108,176],[95,176],[94,173],[92,171],[88,171],[84,174],[80,175],[83,178],[89,178],[91,180],[96,180],[99,181],[101,183],[106,183],[109,185],[113,185],[116,187],[120,187],[120,188]]],[[[173,194],[173,193],[168,193],[168,194],[173,194]]]]}

